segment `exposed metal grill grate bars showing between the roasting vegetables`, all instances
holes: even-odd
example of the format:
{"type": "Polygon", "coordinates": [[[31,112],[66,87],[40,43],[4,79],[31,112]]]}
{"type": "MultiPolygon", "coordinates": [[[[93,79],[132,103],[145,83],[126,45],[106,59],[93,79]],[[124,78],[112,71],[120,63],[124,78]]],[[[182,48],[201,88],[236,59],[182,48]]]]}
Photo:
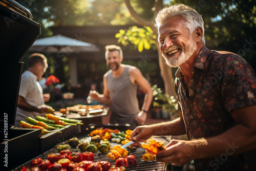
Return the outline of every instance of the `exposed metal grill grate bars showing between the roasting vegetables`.
{"type": "MultiPolygon", "coordinates": [[[[82,138],[82,139],[80,139],[80,141],[84,141],[86,139],[87,138],[82,138]]],[[[120,143],[114,143],[114,142],[110,142],[110,144],[111,144],[111,147],[113,147],[115,145],[120,145],[120,143]]],[[[158,162],[156,160],[155,161],[148,160],[146,162],[146,161],[144,161],[142,159],[142,155],[145,154],[145,149],[144,148],[138,147],[138,148],[135,148],[135,149],[132,149],[132,148],[126,148],[126,149],[129,152],[128,155],[134,155],[136,160],[137,160],[137,165],[135,167],[129,167],[127,169],[127,171],[132,171],[132,170],[138,170],[138,171],[145,171],[145,170],[146,171],[154,171],[154,170],[155,171],[160,171],[160,170],[165,170],[164,163],[160,163],[160,162],[158,162]]],[[[71,151],[71,153],[72,152],[78,152],[78,153],[81,153],[81,154],[83,153],[82,151],[80,151],[79,148],[72,148],[72,147],[70,147],[70,151],[71,151]]],[[[38,157],[40,157],[42,160],[46,160],[48,155],[51,154],[51,153],[58,153],[56,147],[50,149],[48,152],[45,152],[45,153],[41,154],[38,157]]],[[[108,161],[108,162],[111,163],[111,166],[115,166],[116,159],[115,160],[111,160],[108,156],[106,156],[108,153],[109,153],[109,151],[107,151],[106,153],[102,154],[98,150],[96,152],[93,152],[94,157],[95,157],[94,161],[108,161]]],[[[23,166],[25,166],[26,168],[30,168],[30,161],[25,163],[22,166],[19,166],[19,167],[15,168],[14,170],[15,171],[16,170],[20,171],[23,166]]]]}

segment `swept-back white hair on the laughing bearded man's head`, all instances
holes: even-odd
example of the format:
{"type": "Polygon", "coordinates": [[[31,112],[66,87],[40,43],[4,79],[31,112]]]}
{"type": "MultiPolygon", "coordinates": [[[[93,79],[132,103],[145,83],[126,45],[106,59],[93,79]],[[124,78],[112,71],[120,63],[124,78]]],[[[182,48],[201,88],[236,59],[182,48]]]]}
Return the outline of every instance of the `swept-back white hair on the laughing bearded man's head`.
{"type": "Polygon", "coordinates": [[[159,11],[156,17],[155,24],[158,32],[160,25],[163,24],[167,19],[174,16],[182,16],[184,19],[186,19],[189,34],[191,34],[194,30],[200,27],[203,32],[202,42],[203,45],[205,45],[204,22],[202,16],[196,10],[184,4],[176,4],[173,6],[164,7],[161,11],[159,11]]]}

